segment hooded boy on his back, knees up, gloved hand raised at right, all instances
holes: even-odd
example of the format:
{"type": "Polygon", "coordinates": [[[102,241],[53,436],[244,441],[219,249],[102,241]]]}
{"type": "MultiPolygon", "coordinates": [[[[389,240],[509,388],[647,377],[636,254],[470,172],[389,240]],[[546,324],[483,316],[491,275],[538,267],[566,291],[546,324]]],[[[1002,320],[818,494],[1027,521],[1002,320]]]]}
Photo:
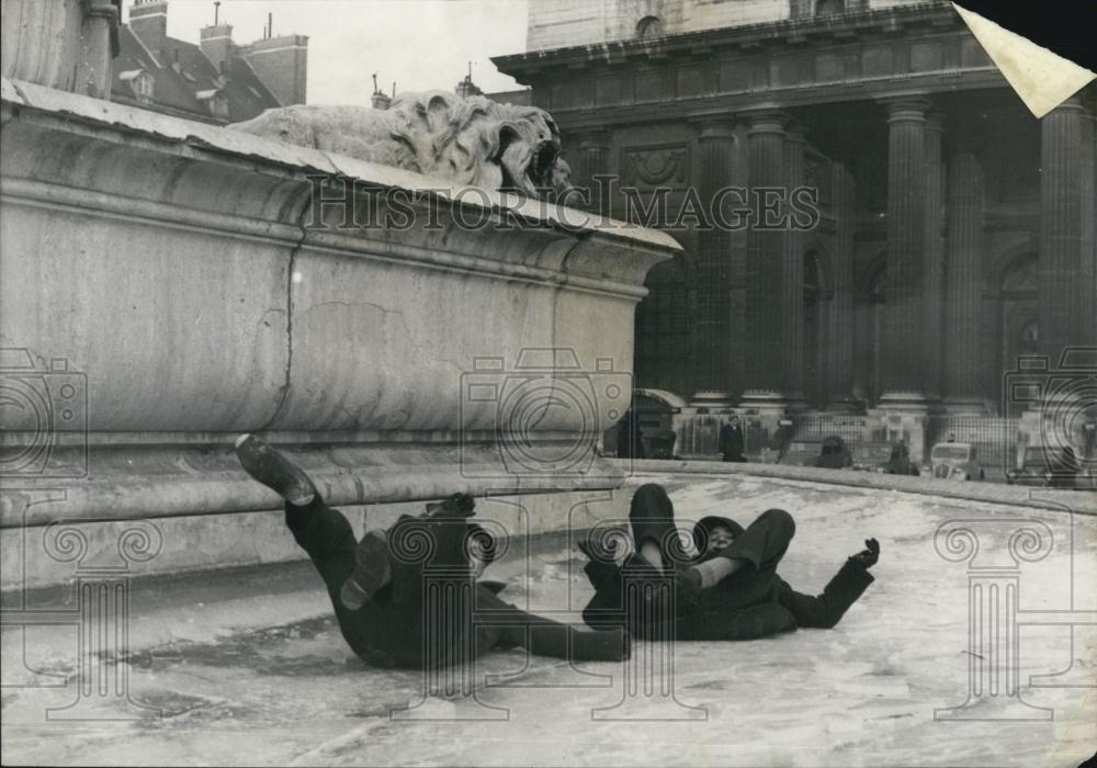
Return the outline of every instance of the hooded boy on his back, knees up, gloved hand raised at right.
{"type": "Polygon", "coordinates": [[[869,568],[880,555],[877,540],[866,541],[822,595],[804,595],[777,574],[796,528],[782,509],[762,512],[745,530],[727,518],[700,520],[692,557],[678,542],[663,486],[641,486],[629,517],[636,552],[622,567],[604,547],[580,545],[596,590],[584,618],[653,640],[751,640],[796,626],[833,628],[873,581],[869,568]]]}

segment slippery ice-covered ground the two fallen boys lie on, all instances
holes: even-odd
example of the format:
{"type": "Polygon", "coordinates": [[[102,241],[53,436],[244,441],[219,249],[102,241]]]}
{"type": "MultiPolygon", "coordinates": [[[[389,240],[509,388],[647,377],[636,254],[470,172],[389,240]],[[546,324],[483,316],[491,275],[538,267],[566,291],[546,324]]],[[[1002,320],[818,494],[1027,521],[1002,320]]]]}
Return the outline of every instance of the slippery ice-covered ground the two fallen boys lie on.
{"type": "MultiPolygon", "coordinates": [[[[1009,565],[1016,522],[1034,520],[1043,530],[1042,522],[1053,544],[1042,560],[1021,563],[1019,609],[1070,609],[1073,571],[1074,608],[1094,611],[1097,518],[791,481],[645,479],[667,484],[680,517],[720,512],[746,523],[769,507],[792,511],[798,532],[781,574],[803,591],[822,590],[875,535],[883,549],[877,581],[835,630],[637,645],[629,667],[569,668],[522,651],[497,653],[476,668],[474,694],[448,699],[425,697],[420,674],[371,669],[354,658],[303,564],[137,583],[133,634],[161,640],[123,667],[131,700],[159,716],[102,720],[135,710],[92,697],[82,713],[90,719],[47,720],[48,708],[76,700],[75,659],[58,655],[48,640],[56,632],[5,628],[3,763],[1028,768],[1076,766],[1094,753],[1097,688],[1062,685],[1097,684],[1093,625],[1075,628],[1073,653],[1067,625],[1019,630],[1020,693],[1029,709],[999,689],[999,705],[981,713],[988,720],[935,720],[935,709],[968,698],[972,656],[968,565],[946,561],[934,534],[949,520],[989,520],[968,523],[985,557],[976,562],[1009,565]],[[279,606],[292,623],[270,619],[279,606]],[[241,615],[253,625],[240,625],[241,615]],[[668,657],[672,675],[660,675],[653,690],[636,682],[638,673],[630,676],[645,665],[665,669],[668,657]],[[1029,686],[1030,675],[1063,670],[1047,680],[1060,687],[1029,686]],[[65,679],[43,673],[69,682],[25,687],[65,679]],[[1049,718],[995,719],[1017,712],[1049,718]]],[[[508,581],[504,595],[546,613],[583,606],[583,556],[566,537],[522,549],[487,574],[508,581]]]]}

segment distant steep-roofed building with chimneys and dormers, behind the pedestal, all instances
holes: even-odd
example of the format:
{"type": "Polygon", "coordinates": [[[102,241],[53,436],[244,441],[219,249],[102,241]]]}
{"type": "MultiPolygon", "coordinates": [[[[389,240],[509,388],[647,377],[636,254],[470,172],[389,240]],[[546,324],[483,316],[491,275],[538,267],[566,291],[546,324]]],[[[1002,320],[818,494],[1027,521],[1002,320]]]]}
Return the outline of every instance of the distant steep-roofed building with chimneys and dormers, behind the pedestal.
{"type": "MultiPolygon", "coordinates": [[[[219,5],[219,3],[218,3],[219,5]]],[[[135,0],[118,33],[111,100],[207,123],[237,123],[264,110],[303,104],[308,37],[268,27],[247,45],[219,18],[200,43],[168,36],[167,0],[135,0]]]]}

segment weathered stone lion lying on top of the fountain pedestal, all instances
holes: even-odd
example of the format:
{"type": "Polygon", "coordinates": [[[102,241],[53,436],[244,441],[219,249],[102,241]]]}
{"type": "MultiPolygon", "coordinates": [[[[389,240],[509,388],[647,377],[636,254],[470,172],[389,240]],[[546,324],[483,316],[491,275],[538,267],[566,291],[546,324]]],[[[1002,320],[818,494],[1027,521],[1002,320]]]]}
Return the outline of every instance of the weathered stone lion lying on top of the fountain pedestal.
{"type": "Polygon", "coordinates": [[[575,189],[559,131],[536,106],[444,91],[402,93],[387,110],[285,106],[229,127],[265,138],[567,204],[575,189]]]}

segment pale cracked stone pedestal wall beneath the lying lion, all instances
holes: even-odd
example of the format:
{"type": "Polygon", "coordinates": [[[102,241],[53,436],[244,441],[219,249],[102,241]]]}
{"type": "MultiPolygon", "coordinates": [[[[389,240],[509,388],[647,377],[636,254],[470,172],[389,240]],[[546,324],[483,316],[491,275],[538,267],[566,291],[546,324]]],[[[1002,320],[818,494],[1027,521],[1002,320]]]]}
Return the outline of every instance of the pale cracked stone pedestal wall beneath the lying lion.
{"type": "MultiPolygon", "coordinates": [[[[3,95],[2,345],[83,387],[47,465],[15,473],[64,489],[32,524],[274,508],[241,489],[240,431],[318,449],[336,504],[620,483],[593,447],[626,406],[633,312],[669,236],[31,83],[3,95]],[[358,196],[319,204],[317,177],[358,196]],[[423,195],[422,221],[385,225],[395,191],[423,195]],[[470,376],[499,396],[471,397],[470,376]],[[499,398],[525,381],[586,398],[521,427],[548,454],[578,445],[568,472],[504,465],[499,398]]],[[[4,418],[5,450],[46,433],[4,418]]]]}

